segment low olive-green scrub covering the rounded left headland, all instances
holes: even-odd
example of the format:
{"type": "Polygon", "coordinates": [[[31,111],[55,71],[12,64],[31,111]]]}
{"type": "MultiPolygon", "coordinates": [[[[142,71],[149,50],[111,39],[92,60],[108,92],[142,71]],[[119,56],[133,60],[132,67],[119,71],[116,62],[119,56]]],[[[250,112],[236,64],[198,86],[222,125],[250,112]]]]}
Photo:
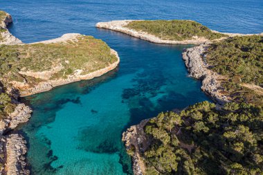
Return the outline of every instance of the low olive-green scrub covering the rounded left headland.
{"type": "Polygon", "coordinates": [[[55,80],[72,75],[77,69],[82,70],[82,74],[97,71],[116,60],[105,42],[90,36],[56,44],[2,45],[0,77],[3,84],[13,80],[34,84],[42,80],[22,75],[21,72],[51,71],[56,66],[62,66],[62,70],[52,75],[51,79],[55,80]]]}

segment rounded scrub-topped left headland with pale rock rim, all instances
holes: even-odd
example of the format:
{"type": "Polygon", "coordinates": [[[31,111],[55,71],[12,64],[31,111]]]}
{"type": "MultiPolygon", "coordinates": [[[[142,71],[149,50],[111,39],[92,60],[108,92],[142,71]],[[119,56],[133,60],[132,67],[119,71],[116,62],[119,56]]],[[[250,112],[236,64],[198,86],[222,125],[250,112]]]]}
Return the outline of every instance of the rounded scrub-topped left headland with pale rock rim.
{"type": "Polygon", "coordinates": [[[66,34],[34,44],[1,46],[0,81],[21,96],[55,86],[90,80],[113,70],[120,59],[100,39],[66,34]]]}

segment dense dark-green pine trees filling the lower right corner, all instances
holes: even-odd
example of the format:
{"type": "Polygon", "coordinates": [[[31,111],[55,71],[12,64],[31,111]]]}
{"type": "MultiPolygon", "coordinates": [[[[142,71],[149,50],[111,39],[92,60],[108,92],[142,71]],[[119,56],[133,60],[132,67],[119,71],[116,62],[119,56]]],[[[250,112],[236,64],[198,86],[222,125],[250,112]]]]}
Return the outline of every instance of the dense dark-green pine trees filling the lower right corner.
{"type": "Polygon", "coordinates": [[[200,102],[160,113],[144,128],[147,174],[262,174],[263,109],[200,102]]]}

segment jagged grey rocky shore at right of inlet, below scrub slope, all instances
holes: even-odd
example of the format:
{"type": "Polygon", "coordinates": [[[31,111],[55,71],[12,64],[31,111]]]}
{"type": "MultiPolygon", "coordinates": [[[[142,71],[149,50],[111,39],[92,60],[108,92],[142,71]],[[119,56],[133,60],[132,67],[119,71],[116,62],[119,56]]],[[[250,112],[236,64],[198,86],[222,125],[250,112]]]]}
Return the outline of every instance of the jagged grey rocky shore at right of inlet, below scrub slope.
{"type": "Polygon", "coordinates": [[[183,60],[190,75],[202,81],[201,89],[219,104],[224,104],[225,102],[230,102],[230,97],[221,93],[223,88],[220,85],[220,80],[224,79],[224,77],[208,69],[208,64],[203,59],[203,54],[209,44],[200,44],[199,46],[186,49],[183,52],[183,60]]]}

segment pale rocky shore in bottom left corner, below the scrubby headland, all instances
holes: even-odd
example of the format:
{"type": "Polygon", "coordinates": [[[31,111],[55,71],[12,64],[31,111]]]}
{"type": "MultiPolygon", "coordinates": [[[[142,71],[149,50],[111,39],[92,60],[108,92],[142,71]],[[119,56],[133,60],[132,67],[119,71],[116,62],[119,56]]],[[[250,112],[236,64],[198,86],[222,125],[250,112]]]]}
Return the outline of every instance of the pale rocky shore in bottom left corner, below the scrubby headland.
{"type": "MultiPolygon", "coordinates": [[[[17,91],[16,91],[17,92],[17,91]]],[[[0,120],[0,174],[29,174],[26,168],[26,140],[24,136],[10,133],[19,124],[27,122],[31,116],[32,109],[24,103],[19,103],[18,95],[10,92],[12,103],[16,105],[15,111],[5,119],[0,120]]]]}

